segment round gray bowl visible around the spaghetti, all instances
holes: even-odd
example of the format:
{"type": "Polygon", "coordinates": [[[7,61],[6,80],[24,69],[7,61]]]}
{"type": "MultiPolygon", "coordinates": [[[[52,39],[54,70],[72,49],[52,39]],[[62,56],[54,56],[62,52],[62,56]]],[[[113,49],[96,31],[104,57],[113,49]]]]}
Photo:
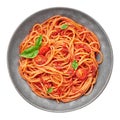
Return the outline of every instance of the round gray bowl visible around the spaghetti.
{"type": "Polygon", "coordinates": [[[108,36],[100,24],[98,24],[93,18],[81,11],[71,8],[50,8],[31,15],[25,21],[23,21],[22,24],[20,24],[10,41],[7,61],[12,82],[19,94],[28,103],[47,111],[67,112],[85,107],[93,102],[103,92],[111,76],[113,68],[113,52],[108,36]],[[93,31],[100,40],[101,50],[104,55],[104,61],[99,67],[99,76],[92,93],[75,101],[59,104],[55,100],[49,100],[35,95],[18,72],[19,44],[21,41],[28,34],[29,30],[35,23],[41,23],[49,17],[58,14],[67,16],[93,31]]]}

